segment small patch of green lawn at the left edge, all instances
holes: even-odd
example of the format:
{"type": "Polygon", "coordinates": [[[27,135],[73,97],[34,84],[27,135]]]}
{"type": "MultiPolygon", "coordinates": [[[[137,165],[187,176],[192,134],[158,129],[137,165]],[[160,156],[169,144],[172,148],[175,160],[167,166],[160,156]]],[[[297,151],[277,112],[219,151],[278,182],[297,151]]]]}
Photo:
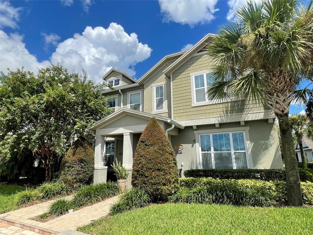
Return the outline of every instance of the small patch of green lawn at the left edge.
{"type": "Polygon", "coordinates": [[[19,185],[0,184],[0,214],[18,209],[15,196],[17,192],[24,190],[26,187],[19,185]]]}

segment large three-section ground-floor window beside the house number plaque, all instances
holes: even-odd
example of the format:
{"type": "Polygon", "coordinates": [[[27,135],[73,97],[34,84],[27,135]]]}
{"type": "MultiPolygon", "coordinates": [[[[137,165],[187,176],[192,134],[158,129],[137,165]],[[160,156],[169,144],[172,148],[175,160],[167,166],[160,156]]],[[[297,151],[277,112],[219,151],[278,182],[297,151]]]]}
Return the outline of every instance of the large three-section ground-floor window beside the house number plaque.
{"type": "Polygon", "coordinates": [[[243,131],[199,134],[202,169],[247,169],[248,153],[243,131]]]}

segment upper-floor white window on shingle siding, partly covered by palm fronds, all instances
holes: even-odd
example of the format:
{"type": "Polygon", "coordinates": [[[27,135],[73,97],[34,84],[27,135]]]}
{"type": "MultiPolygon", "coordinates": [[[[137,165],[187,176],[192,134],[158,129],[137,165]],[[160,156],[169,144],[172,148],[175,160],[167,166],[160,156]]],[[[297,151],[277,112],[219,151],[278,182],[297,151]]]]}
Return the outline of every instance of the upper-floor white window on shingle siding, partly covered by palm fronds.
{"type": "Polygon", "coordinates": [[[194,99],[195,103],[207,102],[208,86],[212,85],[212,76],[210,73],[202,73],[193,76],[194,99]]]}

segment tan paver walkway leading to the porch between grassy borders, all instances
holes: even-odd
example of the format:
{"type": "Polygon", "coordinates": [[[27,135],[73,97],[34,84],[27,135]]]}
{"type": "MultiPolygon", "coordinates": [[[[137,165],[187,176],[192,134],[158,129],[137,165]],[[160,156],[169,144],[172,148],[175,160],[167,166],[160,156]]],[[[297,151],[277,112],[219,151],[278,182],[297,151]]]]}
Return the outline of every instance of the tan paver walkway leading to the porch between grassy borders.
{"type": "MultiPolygon", "coordinates": [[[[67,196],[67,198],[69,197],[71,196],[67,196]]],[[[111,204],[117,200],[118,196],[115,196],[44,223],[30,220],[29,218],[38,216],[47,211],[49,205],[52,203],[52,201],[47,201],[1,214],[0,222],[10,223],[13,226],[29,229],[44,235],[57,234],[67,229],[76,229],[76,227],[88,224],[95,219],[107,216],[111,204]]]]}

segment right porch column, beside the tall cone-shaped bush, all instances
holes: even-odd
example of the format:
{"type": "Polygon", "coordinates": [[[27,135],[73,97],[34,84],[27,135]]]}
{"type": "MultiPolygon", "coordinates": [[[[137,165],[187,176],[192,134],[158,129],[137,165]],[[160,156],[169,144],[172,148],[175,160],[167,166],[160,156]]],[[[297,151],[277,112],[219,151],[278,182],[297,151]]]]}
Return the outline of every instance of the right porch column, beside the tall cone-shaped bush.
{"type": "Polygon", "coordinates": [[[123,166],[128,171],[126,189],[131,189],[131,172],[133,170],[133,134],[124,133],[123,140],[123,166]]]}

